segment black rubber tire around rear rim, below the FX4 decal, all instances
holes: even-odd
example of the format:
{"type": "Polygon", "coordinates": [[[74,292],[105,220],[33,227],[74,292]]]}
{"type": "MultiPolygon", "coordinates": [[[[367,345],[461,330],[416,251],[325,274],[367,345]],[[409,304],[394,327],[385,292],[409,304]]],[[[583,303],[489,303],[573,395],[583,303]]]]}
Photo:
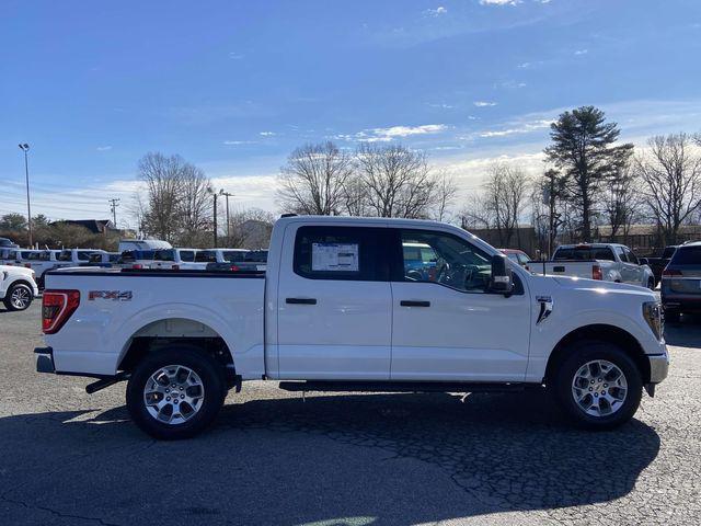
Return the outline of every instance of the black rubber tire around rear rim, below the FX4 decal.
{"type": "Polygon", "coordinates": [[[131,419],[141,431],[153,438],[176,441],[191,438],[209,426],[219,413],[226,396],[226,375],[220,364],[196,347],[173,346],[147,355],[137,365],[127,385],[126,401],[131,419]],[[157,420],[149,412],[145,400],[145,387],[151,375],[168,366],[186,367],[202,380],[204,393],[200,405],[182,423],[169,424],[157,420]]]}

